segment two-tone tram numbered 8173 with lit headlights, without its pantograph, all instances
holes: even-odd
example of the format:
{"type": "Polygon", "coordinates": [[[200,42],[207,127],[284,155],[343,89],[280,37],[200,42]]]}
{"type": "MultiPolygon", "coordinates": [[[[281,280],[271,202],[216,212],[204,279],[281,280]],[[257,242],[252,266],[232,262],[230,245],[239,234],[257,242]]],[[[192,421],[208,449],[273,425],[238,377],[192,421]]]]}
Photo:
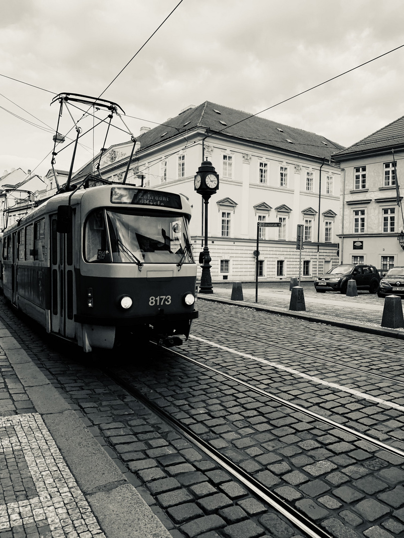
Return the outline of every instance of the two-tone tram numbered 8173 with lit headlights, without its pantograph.
{"type": "Polygon", "coordinates": [[[57,194],[3,232],[6,299],[85,352],[189,337],[197,266],[186,197],[133,185],[57,194]]]}

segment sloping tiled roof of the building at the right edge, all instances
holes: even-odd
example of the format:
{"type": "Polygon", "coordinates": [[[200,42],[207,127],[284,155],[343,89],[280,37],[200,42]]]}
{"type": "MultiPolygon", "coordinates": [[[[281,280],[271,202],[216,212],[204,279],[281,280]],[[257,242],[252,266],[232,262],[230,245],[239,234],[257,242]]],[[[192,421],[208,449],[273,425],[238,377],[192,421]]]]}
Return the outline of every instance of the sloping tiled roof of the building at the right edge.
{"type": "Polygon", "coordinates": [[[396,146],[404,144],[404,116],[389,123],[378,131],[370,134],[366,138],[359,140],[345,150],[338,152],[334,157],[336,160],[341,160],[349,155],[375,151],[375,150],[391,150],[396,146]]]}

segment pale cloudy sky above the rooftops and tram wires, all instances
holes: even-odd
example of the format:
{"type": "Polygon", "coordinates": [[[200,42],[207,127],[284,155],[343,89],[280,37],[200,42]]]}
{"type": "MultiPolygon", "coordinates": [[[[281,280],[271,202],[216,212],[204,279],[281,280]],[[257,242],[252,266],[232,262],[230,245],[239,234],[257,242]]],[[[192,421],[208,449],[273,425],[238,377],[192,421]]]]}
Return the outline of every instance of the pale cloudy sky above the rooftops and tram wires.
{"type": "MultiPolygon", "coordinates": [[[[289,99],[404,45],[401,0],[178,3],[3,1],[0,175],[20,167],[44,176],[51,168],[59,115],[51,102],[60,93],[120,105],[123,121],[114,117],[106,147],[204,101],[260,112],[343,146],[404,115],[404,47],[289,99]]],[[[96,123],[79,106],[60,118],[67,140],[75,138],[73,119],[83,132],[96,123]]],[[[99,152],[105,135],[102,124],[80,138],[74,170],[99,152]]],[[[73,144],[66,146],[56,147],[56,169],[70,167],[73,144]]]]}

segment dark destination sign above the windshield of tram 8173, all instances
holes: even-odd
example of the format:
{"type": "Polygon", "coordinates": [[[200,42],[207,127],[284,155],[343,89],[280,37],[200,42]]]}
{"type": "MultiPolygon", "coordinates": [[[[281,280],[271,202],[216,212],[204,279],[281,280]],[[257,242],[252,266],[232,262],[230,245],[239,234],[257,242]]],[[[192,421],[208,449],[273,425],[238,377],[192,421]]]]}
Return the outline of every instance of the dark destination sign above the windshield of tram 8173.
{"type": "Polygon", "coordinates": [[[182,209],[181,197],[178,194],[151,189],[112,187],[111,203],[182,209]]]}

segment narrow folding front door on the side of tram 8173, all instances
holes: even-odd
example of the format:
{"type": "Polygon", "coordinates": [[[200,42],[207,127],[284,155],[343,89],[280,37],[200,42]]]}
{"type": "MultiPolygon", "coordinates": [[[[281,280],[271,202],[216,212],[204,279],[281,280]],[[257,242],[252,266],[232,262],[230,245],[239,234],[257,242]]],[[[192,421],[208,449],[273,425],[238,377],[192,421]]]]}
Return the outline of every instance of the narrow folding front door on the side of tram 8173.
{"type": "Polygon", "coordinates": [[[51,216],[51,331],[74,338],[73,234],[56,231],[57,216],[51,216]]]}

